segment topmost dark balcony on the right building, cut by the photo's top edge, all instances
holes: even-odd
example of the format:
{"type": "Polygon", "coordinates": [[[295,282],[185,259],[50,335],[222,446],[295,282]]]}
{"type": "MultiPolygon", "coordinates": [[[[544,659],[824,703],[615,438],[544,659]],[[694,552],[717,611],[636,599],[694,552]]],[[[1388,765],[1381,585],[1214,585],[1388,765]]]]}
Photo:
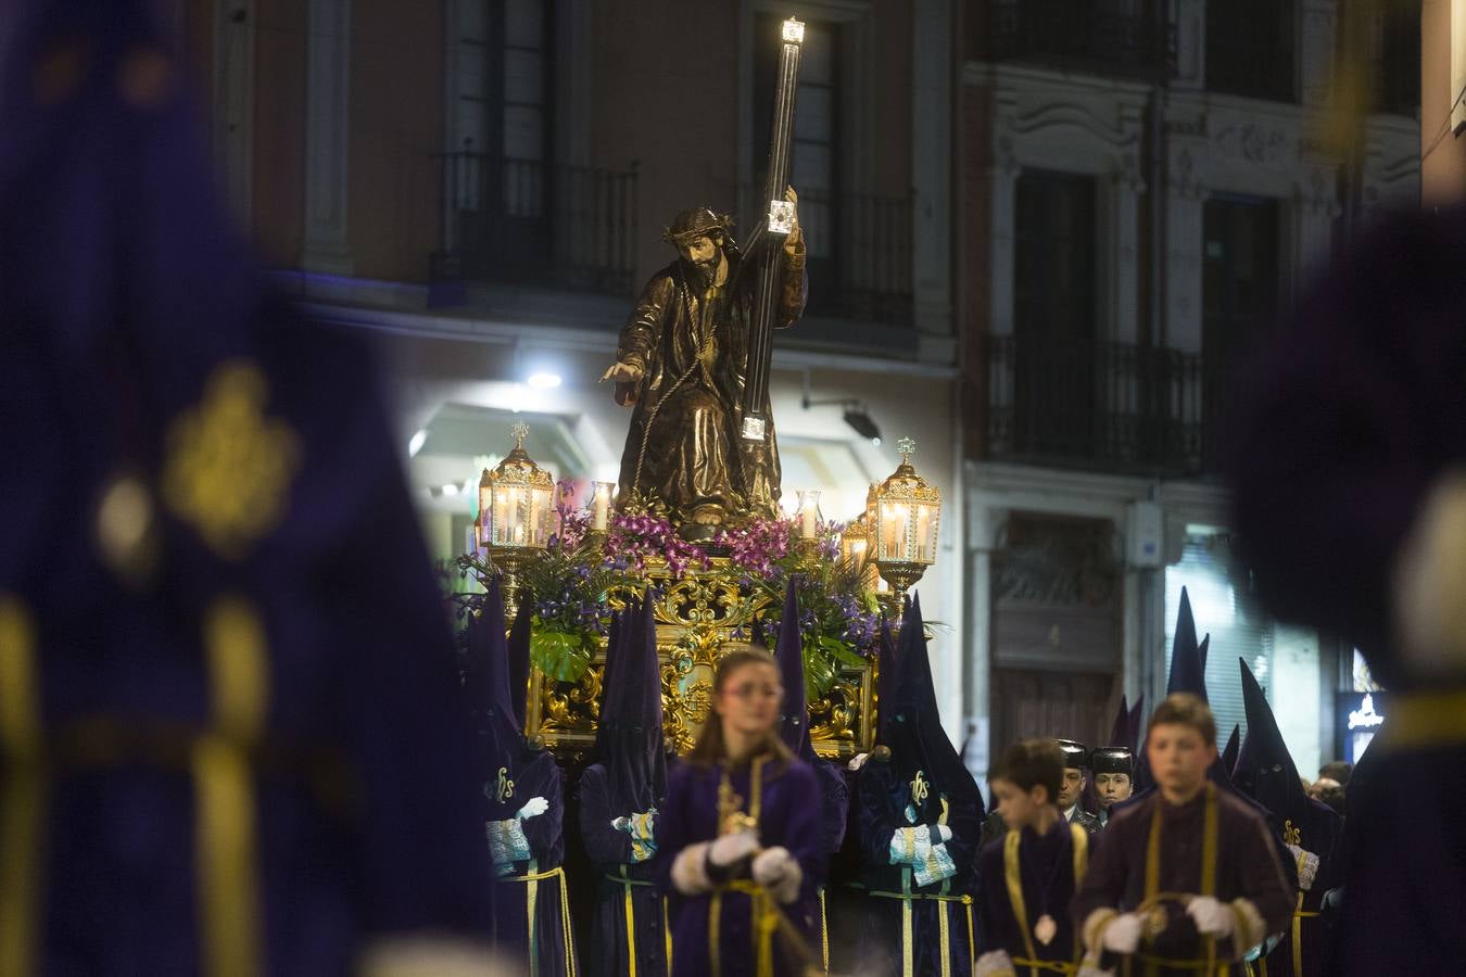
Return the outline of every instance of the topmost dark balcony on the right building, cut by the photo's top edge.
{"type": "Polygon", "coordinates": [[[1176,32],[1158,0],[990,0],[973,53],[1098,75],[1170,78],[1176,32]]]}

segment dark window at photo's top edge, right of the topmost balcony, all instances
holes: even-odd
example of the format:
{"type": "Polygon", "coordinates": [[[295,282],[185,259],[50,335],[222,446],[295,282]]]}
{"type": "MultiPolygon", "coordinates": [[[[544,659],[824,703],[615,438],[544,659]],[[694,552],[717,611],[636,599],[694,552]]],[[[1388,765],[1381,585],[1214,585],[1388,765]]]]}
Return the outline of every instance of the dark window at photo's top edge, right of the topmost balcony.
{"type": "Polygon", "coordinates": [[[1207,3],[1207,88],[1293,101],[1293,0],[1207,3]]]}

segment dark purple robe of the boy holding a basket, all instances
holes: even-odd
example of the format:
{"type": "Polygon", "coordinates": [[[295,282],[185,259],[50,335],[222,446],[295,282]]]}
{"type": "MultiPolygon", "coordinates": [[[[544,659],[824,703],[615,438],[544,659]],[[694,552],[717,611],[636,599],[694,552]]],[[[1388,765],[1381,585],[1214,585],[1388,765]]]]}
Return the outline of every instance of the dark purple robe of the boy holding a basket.
{"type": "MultiPolygon", "coordinates": [[[[1261,936],[1281,933],[1293,920],[1294,891],[1278,863],[1267,823],[1231,792],[1215,787],[1208,790],[1217,797],[1217,879],[1211,895],[1221,902],[1246,899],[1261,917],[1261,936]]],[[[1205,797],[1202,792],[1177,807],[1155,791],[1113,814],[1104,842],[1089,863],[1089,874],[1075,896],[1075,924],[1080,927],[1080,935],[1097,910],[1130,913],[1145,899],[1151,817],[1157,806],[1161,810],[1158,892],[1201,894],[1205,797]]],[[[1143,955],[1176,961],[1207,959],[1205,943],[1185,908],[1174,901],[1161,905],[1167,915],[1165,929],[1152,943],[1142,940],[1141,952],[1132,959],[1142,961],[1143,955]]],[[[1250,946],[1239,943],[1242,940],[1233,937],[1217,940],[1217,973],[1250,946]]],[[[1107,967],[1114,961],[1113,954],[1101,958],[1107,967]]],[[[1158,967],[1155,973],[1180,976],[1202,971],[1158,967]]]]}

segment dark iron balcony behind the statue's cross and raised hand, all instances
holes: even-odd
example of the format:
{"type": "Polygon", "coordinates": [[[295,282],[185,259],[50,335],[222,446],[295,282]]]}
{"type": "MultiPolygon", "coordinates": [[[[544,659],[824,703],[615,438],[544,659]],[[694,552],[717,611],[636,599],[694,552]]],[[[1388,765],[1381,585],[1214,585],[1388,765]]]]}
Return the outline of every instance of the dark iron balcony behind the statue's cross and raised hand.
{"type": "MultiPolygon", "coordinates": [[[[912,324],[912,199],[799,190],[808,249],[805,315],[912,324]]],[[[739,189],[742,237],[762,220],[764,187],[739,189]]]]}

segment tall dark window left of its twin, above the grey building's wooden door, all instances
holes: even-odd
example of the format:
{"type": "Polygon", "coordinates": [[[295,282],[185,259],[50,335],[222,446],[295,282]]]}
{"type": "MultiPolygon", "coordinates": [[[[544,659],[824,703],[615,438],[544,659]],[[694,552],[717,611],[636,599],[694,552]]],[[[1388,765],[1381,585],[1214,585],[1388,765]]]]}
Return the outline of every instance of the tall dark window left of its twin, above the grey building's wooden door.
{"type": "Polygon", "coordinates": [[[1025,171],[1013,261],[1013,445],[1085,457],[1095,447],[1095,183],[1025,171]]]}

